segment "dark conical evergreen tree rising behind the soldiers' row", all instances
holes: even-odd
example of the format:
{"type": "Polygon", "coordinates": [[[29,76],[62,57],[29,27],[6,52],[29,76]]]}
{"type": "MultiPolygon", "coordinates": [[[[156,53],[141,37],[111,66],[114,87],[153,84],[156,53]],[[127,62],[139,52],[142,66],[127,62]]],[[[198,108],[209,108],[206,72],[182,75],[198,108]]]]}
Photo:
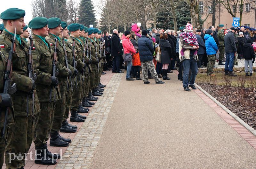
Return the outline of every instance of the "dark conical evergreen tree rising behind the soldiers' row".
{"type": "Polygon", "coordinates": [[[89,25],[96,25],[95,10],[93,10],[92,0],[81,0],[79,5],[79,24],[89,27],[89,25]]]}

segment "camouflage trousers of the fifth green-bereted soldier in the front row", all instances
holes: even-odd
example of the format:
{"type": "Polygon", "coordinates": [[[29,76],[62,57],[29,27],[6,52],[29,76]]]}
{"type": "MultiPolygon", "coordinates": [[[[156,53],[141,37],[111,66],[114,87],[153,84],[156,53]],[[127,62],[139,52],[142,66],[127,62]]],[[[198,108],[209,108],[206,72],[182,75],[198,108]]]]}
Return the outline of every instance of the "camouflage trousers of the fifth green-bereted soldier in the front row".
{"type": "Polygon", "coordinates": [[[73,88],[73,96],[72,96],[70,110],[77,110],[78,105],[81,103],[80,99],[81,99],[82,89],[83,89],[82,78],[80,80],[80,77],[77,77],[77,87],[73,88]]]}

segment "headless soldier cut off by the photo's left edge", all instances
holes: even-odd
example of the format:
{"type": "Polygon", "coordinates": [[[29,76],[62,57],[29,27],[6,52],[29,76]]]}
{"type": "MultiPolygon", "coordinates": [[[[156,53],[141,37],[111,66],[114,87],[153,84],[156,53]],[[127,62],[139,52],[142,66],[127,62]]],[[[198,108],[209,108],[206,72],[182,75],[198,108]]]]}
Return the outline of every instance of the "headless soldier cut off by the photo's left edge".
{"type": "Polygon", "coordinates": [[[2,168],[4,164],[4,150],[6,146],[6,139],[8,135],[8,130],[10,127],[14,125],[14,110],[12,107],[12,98],[9,94],[2,93],[4,90],[4,73],[5,73],[5,65],[6,65],[6,57],[2,53],[3,51],[0,48],[0,168],[2,168]],[[2,98],[3,95],[3,98],[2,98]],[[6,97],[8,95],[9,97],[6,97]],[[10,108],[5,107],[2,103],[9,103],[10,108]],[[4,129],[4,119],[5,119],[5,112],[7,109],[7,120],[6,120],[6,126],[4,129]],[[3,133],[4,130],[4,133],[3,133]],[[4,135],[3,135],[4,134],[4,135]]]}

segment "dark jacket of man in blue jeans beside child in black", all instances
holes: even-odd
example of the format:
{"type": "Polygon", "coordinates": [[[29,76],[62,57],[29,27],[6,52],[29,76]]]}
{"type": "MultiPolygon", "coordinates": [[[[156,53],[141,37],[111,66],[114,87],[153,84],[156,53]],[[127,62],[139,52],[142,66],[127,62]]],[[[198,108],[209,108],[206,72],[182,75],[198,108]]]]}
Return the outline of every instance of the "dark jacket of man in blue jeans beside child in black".
{"type": "Polygon", "coordinates": [[[225,35],[224,45],[225,45],[226,53],[235,53],[236,52],[235,34],[232,31],[228,31],[228,33],[225,35]]]}

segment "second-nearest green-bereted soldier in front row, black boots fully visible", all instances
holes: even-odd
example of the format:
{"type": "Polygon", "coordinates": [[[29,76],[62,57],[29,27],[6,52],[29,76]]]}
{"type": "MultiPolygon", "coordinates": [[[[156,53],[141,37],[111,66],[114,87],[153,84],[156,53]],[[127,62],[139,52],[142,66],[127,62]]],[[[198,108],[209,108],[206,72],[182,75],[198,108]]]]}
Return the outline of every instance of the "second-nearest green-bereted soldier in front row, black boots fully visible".
{"type": "Polygon", "coordinates": [[[48,151],[46,143],[49,140],[52,129],[54,108],[56,107],[55,101],[60,99],[60,89],[58,87],[58,78],[52,76],[53,58],[51,44],[45,39],[49,34],[48,19],[43,17],[33,18],[28,23],[28,27],[32,29],[34,46],[32,50],[33,65],[38,76],[36,89],[41,108],[41,111],[35,116],[36,122],[33,140],[36,149],[35,163],[52,165],[56,164],[55,159],[60,158],[60,154],[53,154],[48,151]]]}

